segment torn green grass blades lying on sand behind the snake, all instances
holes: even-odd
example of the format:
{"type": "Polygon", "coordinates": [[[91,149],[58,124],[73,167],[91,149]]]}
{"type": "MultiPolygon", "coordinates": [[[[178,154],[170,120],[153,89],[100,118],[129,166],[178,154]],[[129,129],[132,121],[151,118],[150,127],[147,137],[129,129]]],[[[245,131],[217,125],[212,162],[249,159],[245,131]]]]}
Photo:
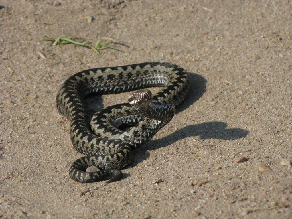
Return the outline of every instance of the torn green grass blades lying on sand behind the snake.
{"type": "MultiPolygon", "coordinates": [[[[116,40],[114,40],[112,38],[109,38],[109,37],[101,37],[101,38],[99,38],[96,41],[96,43],[95,43],[94,46],[88,45],[88,44],[91,44],[91,42],[89,40],[87,40],[87,41],[85,41],[83,43],[80,43],[80,42],[77,42],[75,40],[72,40],[72,39],[68,38],[67,36],[60,36],[57,39],[53,39],[53,38],[48,37],[48,36],[45,36],[45,38],[46,39],[42,39],[39,42],[42,42],[42,41],[53,41],[53,46],[61,45],[61,44],[69,44],[69,43],[72,43],[72,44],[75,44],[75,45],[78,45],[78,46],[85,46],[85,47],[91,48],[97,54],[100,54],[99,50],[107,49],[107,48],[115,49],[115,50],[124,52],[124,51],[122,51],[122,50],[120,50],[120,49],[118,49],[116,47],[110,46],[109,43],[107,43],[107,44],[100,44],[100,41],[101,40],[109,40],[109,41],[112,41],[112,43],[120,44],[120,43],[117,43],[116,40]]],[[[123,44],[120,44],[120,45],[123,45],[123,44]]]]}

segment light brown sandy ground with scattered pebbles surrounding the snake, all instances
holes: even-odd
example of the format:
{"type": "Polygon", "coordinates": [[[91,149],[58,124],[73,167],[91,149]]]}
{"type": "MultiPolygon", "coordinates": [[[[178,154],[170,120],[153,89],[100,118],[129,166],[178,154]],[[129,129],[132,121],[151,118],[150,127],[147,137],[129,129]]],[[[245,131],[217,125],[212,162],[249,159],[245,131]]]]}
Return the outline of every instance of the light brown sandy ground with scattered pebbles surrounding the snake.
{"type": "Polygon", "coordinates": [[[0,2],[0,218],[292,218],[291,1],[59,2],[0,2]],[[129,48],[97,55],[44,36],[129,48]],[[55,107],[61,84],[146,61],[187,69],[187,100],[121,181],[71,180],[81,154],[55,107]]]}

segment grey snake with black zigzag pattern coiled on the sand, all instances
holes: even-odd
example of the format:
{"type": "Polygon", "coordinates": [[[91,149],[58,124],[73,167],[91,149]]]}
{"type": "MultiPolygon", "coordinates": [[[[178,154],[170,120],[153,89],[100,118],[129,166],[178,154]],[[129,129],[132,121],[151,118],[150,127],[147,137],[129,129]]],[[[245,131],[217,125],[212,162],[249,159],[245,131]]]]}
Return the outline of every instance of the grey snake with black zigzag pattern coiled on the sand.
{"type": "Polygon", "coordinates": [[[132,160],[132,150],[148,142],[175,114],[186,97],[190,76],[167,62],[145,62],[87,69],[70,76],[56,96],[56,107],[69,121],[73,147],[84,154],[69,168],[80,183],[123,178],[120,169],[132,160]],[[148,87],[163,86],[154,95],[148,87]],[[138,90],[142,89],[142,90],[138,90]],[[134,91],[128,102],[105,107],[92,115],[89,94],[134,91]],[[87,172],[89,166],[97,171],[87,172]]]}

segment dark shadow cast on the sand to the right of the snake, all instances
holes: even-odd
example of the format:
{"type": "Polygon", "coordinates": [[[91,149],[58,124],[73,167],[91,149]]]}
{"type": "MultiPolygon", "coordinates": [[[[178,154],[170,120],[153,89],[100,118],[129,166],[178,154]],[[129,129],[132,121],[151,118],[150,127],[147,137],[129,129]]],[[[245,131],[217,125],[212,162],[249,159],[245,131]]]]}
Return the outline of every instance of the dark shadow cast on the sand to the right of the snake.
{"type": "MultiPolygon", "coordinates": [[[[190,91],[187,95],[186,100],[176,107],[176,112],[182,112],[194,102],[199,100],[206,92],[207,80],[199,74],[190,73],[191,86],[190,91]]],[[[182,140],[188,137],[199,136],[200,139],[220,139],[220,140],[235,140],[239,138],[245,138],[248,135],[248,131],[241,128],[227,128],[228,124],[222,121],[212,121],[205,122],[201,124],[193,124],[185,126],[184,128],[175,131],[163,138],[150,140],[140,149],[133,151],[133,161],[131,166],[142,162],[143,160],[149,158],[150,154],[147,150],[156,150],[161,147],[166,147],[171,145],[178,140],[182,140]],[[141,153],[142,152],[142,153],[141,153]],[[140,155],[139,155],[140,154],[140,155]],[[142,154],[142,155],[141,155],[142,154]]],[[[194,147],[196,147],[194,145],[194,147]]],[[[126,174],[125,174],[126,175],[126,174]]]]}

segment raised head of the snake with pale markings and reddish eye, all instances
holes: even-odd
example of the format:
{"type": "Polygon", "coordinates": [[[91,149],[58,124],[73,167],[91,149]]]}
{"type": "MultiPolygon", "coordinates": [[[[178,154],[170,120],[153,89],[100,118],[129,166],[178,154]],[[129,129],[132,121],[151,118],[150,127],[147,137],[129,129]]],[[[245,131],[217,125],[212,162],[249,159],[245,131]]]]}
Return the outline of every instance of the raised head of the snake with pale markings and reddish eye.
{"type": "Polygon", "coordinates": [[[153,95],[150,90],[140,90],[135,91],[131,95],[129,95],[128,101],[132,106],[140,107],[148,105],[150,101],[153,100],[153,95]]]}

